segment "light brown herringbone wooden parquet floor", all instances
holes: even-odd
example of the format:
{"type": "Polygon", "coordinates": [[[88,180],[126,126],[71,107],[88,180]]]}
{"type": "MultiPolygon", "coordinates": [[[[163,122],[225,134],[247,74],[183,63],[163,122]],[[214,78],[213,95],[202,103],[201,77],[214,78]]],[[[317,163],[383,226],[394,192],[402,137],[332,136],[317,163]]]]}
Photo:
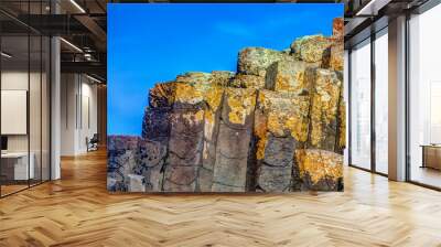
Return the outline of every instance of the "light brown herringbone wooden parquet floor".
{"type": "Polygon", "coordinates": [[[344,193],[108,194],[106,153],[0,200],[0,246],[441,246],[441,193],[347,168],[344,193]]]}

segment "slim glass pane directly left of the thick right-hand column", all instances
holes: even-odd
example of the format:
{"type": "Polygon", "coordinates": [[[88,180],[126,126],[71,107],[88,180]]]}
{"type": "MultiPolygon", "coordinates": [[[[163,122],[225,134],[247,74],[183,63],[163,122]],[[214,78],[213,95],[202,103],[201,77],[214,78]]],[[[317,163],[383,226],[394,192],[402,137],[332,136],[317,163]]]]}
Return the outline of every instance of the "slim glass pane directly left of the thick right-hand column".
{"type": "Polygon", "coordinates": [[[388,173],[388,39],[387,30],[375,40],[375,168],[388,173]]]}

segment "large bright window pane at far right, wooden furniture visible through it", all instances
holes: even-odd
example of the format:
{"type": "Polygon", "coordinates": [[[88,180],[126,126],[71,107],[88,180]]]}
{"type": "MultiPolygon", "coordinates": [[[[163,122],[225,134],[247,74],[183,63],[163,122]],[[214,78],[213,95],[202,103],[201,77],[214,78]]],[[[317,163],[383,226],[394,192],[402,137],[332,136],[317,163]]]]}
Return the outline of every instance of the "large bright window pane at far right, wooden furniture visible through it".
{"type": "Polygon", "coordinates": [[[441,187],[441,6],[410,20],[410,180],[441,187]]]}

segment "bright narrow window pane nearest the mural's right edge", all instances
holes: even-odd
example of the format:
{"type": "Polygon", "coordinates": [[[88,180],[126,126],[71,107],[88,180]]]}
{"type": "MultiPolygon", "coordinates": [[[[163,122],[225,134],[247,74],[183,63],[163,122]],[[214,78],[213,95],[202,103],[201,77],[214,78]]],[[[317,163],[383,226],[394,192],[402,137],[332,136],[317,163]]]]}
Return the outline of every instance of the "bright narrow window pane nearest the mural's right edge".
{"type": "Polygon", "coordinates": [[[351,162],[370,169],[370,41],[351,53],[351,162]]]}

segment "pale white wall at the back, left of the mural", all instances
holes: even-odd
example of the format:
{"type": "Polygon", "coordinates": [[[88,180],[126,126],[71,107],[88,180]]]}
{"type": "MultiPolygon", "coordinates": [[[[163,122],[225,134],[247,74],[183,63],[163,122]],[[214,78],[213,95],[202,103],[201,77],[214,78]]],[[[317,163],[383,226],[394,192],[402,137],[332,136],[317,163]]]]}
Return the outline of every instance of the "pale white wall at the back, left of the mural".
{"type": "Polygon", "coordinates": [[[86,138],[97,132],[97,86],[79,74],[62,74],[61,80],[61,154],[82,154],[86,138]]]}

